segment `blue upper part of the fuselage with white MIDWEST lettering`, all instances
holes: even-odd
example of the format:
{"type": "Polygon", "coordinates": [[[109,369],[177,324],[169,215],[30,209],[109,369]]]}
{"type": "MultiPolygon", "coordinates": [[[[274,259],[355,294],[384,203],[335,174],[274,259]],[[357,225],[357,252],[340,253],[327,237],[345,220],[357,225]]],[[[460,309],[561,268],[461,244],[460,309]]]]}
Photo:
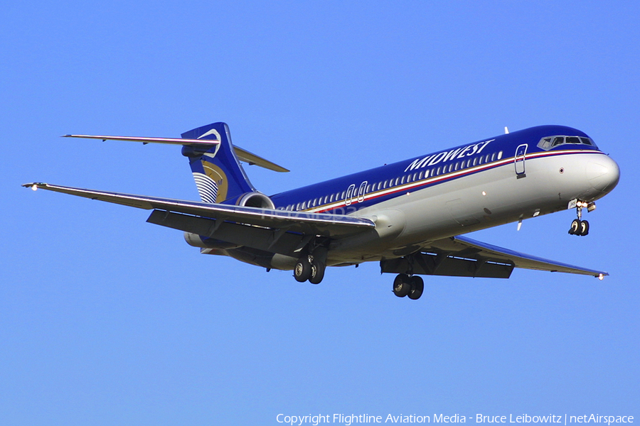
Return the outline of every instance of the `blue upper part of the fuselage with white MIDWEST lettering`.
{"type": "Polygon", "coordinates": [[[513,163],[518,147],[518,155],[522,154],[523,144],[527,158],[577,150],[599,152],[582,131],[536,126],[281,192],[271,199],[278,209],[348,214],[407,191],[513,163]]]}

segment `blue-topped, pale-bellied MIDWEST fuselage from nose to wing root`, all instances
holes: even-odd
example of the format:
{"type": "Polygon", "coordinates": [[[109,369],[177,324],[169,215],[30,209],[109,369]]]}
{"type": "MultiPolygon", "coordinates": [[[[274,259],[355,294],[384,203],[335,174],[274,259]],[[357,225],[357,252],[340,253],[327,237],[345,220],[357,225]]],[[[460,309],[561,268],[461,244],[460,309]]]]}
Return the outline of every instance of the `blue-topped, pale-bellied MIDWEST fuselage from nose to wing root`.
{"type": "Polygon", "coordinates": [[[617,164],[582,131],[538,126],[271,199],[278,209],[351,214],[371,217],[377,225],[384,222],[376,226],[380,238],[343,239],[329,251],[337,263],[355,263],[565,210],[570,200],[593,202],[612,190],[618,179],[617,164]]]}

